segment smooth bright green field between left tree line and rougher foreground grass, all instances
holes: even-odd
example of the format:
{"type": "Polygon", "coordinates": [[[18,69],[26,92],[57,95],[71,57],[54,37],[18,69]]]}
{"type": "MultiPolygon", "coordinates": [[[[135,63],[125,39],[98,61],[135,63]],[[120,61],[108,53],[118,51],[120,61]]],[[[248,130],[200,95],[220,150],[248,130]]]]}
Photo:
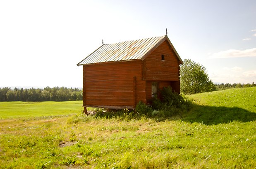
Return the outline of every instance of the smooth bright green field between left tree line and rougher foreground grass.
{"type": "Polygon", "coordinates": [[[68,102],[0,102],[0,119],[58,116],[79,113],[83,101],[68,102]]]}

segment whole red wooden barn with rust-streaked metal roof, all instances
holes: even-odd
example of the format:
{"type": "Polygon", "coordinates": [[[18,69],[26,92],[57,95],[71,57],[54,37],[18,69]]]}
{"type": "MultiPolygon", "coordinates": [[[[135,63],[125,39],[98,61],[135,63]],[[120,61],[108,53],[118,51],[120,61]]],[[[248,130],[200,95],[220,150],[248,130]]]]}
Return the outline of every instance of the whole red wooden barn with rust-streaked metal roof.
{"type": "Polygon", "coordinates": [[[179,65],[183,64],[166,36],[103,44],[77,64],[83,66],[86,107],[134,109],[151,104],[164,86],[179,93],[179,65]]]}

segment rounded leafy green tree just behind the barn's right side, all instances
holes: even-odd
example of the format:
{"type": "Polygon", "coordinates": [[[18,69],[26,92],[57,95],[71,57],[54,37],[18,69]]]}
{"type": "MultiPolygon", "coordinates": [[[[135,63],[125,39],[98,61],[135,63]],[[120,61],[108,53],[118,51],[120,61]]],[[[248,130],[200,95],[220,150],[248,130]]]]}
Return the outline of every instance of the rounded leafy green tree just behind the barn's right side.
{"type": "Polygon", "coordinates": [[[184,94],[195,94],[216,90],[209,80],[206,68],[190,59],[184,60],[180,67],[180,88],[184,94]]]}

